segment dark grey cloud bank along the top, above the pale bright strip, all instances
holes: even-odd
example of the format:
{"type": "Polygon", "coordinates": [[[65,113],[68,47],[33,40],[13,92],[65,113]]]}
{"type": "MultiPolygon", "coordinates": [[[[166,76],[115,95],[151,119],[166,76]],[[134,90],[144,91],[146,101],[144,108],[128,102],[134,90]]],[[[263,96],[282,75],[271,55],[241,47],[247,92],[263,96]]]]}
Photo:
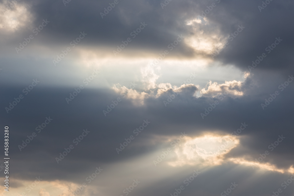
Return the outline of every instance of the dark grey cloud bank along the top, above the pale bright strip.
{"type": "MultiPolygon", "coordinates": [[[[39,42],[43,45],[49,47],[53,44],[68,45],[72,39],[78,37],[80,31],[85,31],[88,35],[82,45],[113,48],[130,37],[130,33],[145,21],[148,26],[136,38],[132,38],[135,41],[128,46],[129,49],[141,50],[147,48],[163,50],[170,42],[176,40],[177,34],[188,35],[186,21],[198,18],[198,15],[207,9],[206,6],[216,3],[217,6],[206,16],[215,30],[220,28],[220,33],[227,36],[236,31],[238,25],[245,27],[243,32],[221,51],[219,60],[247,70],[248,65],[251,65],[257,56],[266,53],[267,56],[257,69],[291,67],[293,27],[288,24],[288,19],[292,18],[293,14],[289,10],[293,6],[291,1],[270,2],[261,12],[258,6],[262,2],[256,1],[220,1],[219,4],[216,1],[197,3],[172,1],[164,9],[161,8],[161,1],[118,1],[119,3],[103,19],[100,12],[109,6],[106,2],[71,1],[66,6],[62,1],[26,2],[31,7],[31,13],[34,14],[33,26],[39,26],[43,19],[50,21],[39,35],[42,37],[39,42]],[[267,53],[265,48],[274,43],[275,38],[283,41],[273,51],[267,53]]],[[[201,28],[204,33],[213,31],[208,26],[201,28]]],[[[29,31],[22,37],[27,36],[29,31]]],[[[21,37],[19,33],[17,34],[21,37]]],[[[23,38],[15,40],[14,45],[23,38]]],[[[191,55],[188,46],[184,43],[180,45],[176,48],[178,52],[191,55]]]]}

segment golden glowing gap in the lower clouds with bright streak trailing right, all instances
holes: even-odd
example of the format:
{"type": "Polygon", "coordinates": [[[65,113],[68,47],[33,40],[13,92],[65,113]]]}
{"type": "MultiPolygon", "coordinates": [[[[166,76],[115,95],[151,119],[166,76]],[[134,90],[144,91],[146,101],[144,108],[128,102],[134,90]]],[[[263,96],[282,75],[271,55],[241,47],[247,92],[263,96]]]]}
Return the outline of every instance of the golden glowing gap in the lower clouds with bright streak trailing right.
{"type": "Polygon", "coordinates": [[[260,163],[243,157],[225,156],[239,144],[240,140],[233,135],[205,134],[197,138],[186,137],[186,140],[175,148],[176,160],[168,162],[168,164],[173,167],[184,165],[205,167],[221,165],[226,162],[250,166],[253,169],[294,173],[293,165],[288,169],[283,169],[270,163],[260,163]]]}

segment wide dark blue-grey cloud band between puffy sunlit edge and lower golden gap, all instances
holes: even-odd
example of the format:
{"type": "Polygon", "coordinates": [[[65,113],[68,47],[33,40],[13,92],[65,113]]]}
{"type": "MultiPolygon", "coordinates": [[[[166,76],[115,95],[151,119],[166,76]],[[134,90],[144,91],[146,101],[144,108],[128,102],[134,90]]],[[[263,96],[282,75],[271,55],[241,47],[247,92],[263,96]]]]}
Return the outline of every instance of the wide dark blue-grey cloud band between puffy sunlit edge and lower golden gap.
{"type": "MultiPolygon", "coordinates": [[[[293,89],[293,87],[289,88],[293,89]]],[[[115,100],[120,95],[109,90],[84,89],[67,104],[65,98],[69,96],[71,88],[38,88],[21,100],[8,114],[4,107],[12,101],[13,96],[3,97],[1,116],[3,122],[14,130],[14,140],[11,145],[14,146],[12,153],[15,159],[22,160],[24,163],[25,160],[30,160],[28,164],[31,165],[31,172],[36,172],[37,168],[40,168],[39,172],[44,172],[41,169],[44,166],[40,162],[46,163],[47,167],[56,171],[64,172],[60,165],[67,165],[69,161],[79,162],[80,157],[83,157],[83,161],[100,163],[136,157],[157,148],[149,146],[150,143],[146,142],[152,141],[150,135],[178,135],[185,131],[188,135],[196,136],[205,130],[215,133],[220,130],[230,134],[244,122],[249,126],[241,135],[247,135],[249,138],[244,140],[241,138],[241,142],[248,151],[233,150],[231,155],[237,157],[249,155],[253,159],[258,158],[259,153],[268,150],[268,145],[276,141],[278,135],[283,135],[286,137],[285,141],[274,149],[269,159],[265,161],[288,168],[293,163],[293,158],[288,156],[292,152],[291,138],[293,137],[290,120],[293,116],[292,108],[289,105],[290,98],[287,98],[293,95],[291,89],[285,92],[287,95],[281,94],[265,110],[260,106],[263,100],[256,96],[251,100],[248,96],[235,99],[226,97],[224,100],[219,100],[220,104],[202,119],[200,113],[204,113],[205,108],[217,99],[195,98],[188,90],[180,92],[166,107],[163,100],[168,98],[168,93],[156,99],[147,99],[146,105],[143,106],[133,105],[131,100],[125,99],[104,116],[102,110],[106,110],[111,100],[115,100]],[[27,139],[27,135],[36,132],[35,128],[49,116],[53,118],[52,122],[20,152],[17,146],[21,145],[22,140],[27,139]],[[151,124],[136,137],[132,145],[118,155],[115,149],[119,147],[119,144],[124,142],[124,138],[133,135],[133,130],[147,119],[151,121],[151,124]],[[73,144],[72,141],[81,135],[83,129],[88,129],[89,135],[61,163],[57,164],[55,157],[63,152],[64,148],[73,144]],[[136,145],[142,142],[145,147],[136,148],[136,145]],[[94,155],[92,150],[87,149],[94,150],[94,155]],[[284,156],[287,158],[282,161],[280,158],[284,156]],[[34,161],[31,162],[31,160],[34,161]]],[[[17,95],[19,89],[2,88],[1,92],[17,95]]],[[[30,172],[29,169],[24,170],[25,167],[26,165],[23,164],[22,167],[15,169],[21,173],[30,172]]],[[[71,167],[79,170],[80,166],[72,165],[71,167]]],[[[54,174],[50,170],[53,176],[58,175],[59,172],[54,174]]]]}

